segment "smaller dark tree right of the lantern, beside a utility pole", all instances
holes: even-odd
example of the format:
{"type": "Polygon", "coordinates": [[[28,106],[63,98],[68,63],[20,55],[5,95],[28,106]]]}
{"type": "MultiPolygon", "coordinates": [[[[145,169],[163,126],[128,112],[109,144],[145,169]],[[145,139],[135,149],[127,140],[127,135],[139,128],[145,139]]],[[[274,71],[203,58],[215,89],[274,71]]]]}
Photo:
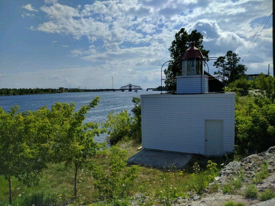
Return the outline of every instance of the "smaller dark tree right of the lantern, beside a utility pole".
{"type": "Polygon", "coordinates": [[[218,71],[214,72],[214,75],[223,76],[223,65],[224,65],[224,76],[227,78],[225,83],[231,83],[236,79],[239,79],[245,75],[247,67],[243,64],[239,64],[240,57],[237,58],[237,54],[232,51],[228,51],[225,56],[221,56],[214,62],[218,71]]]}

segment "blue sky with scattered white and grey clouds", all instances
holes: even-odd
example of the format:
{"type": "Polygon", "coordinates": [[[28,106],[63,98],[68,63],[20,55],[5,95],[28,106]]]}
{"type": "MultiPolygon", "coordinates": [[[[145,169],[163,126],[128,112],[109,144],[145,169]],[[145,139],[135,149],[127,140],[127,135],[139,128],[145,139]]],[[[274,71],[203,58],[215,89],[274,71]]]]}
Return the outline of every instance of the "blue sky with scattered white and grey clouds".
{"type": "Polygon", "coordinates": [[[259,73],[270,63],[272,74],[272,18],[262,30],[271,6],[271,0],[2,0],[0,88],[110,88],[112,76],[116,88],[156,87],[181,27],[201,32],[210,56],[234,50],[242,59],[260,34],[243,64],[259,73]]]}

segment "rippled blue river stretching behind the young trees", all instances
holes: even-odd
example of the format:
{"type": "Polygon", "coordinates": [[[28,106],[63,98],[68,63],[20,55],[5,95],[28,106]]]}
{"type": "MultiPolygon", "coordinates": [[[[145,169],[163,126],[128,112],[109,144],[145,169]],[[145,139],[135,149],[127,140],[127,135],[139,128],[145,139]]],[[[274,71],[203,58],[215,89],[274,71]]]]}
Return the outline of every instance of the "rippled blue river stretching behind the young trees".
{"type": "MultiPolygon", "coordinates": [[[[72,92],[72,93],[60,93],[60,94],[36,94],[36,95],[16,95],[16,96],[0,96],[0,107],[3,110],[8,111],[14,105],[19,106],[20,111],[37,110],[40,107],[46,105],[47,108],[51,108],[54,102],[74,102],[75,108],[78,110],[80,106],[89,104],[95,96],[100,96],[99,105],[91,109],[87,114],[85,122],[105,122],[109,112],[115,113],[121,110],[128,110],[131,113],[131,109],[134,107],[132,102],[133,97],[140,97],[141,94],[158,94],[160,92],[138,90],[138,92],[72,92]]],[[[132,115],[132,113],[131,113],[132,115]]],[[[105,141],[106,135],[100,135],[95,137],[96,141],[105,141]]]]}

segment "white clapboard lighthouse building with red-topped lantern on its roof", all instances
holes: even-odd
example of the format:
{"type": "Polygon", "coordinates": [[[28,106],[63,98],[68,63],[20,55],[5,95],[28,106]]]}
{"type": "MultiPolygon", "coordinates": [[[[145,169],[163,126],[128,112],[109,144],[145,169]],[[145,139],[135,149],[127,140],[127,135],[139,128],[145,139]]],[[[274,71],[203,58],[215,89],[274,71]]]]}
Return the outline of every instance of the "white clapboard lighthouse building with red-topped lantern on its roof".
{"type": "Polygon", "coordinates": [[[233,152],[235,93],[209,92],[213,77],[204,74],[204,57],[194,43],[182,59],[176,94],[141,95],[142,149],[211,156],[233,152]]]}

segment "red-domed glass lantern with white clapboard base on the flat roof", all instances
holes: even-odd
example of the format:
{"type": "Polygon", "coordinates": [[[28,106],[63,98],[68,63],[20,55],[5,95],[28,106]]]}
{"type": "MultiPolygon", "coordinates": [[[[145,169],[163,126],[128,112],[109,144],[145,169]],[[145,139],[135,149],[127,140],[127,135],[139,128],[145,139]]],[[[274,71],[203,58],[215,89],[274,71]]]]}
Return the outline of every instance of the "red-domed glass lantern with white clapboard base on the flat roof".
{"type": "Polygon", "coordinates": [[[203,55],[192,42],[182,56],[182,75],[176,76],[177,94],[208,93],[208,76],[204,75],[203,55]]]}

